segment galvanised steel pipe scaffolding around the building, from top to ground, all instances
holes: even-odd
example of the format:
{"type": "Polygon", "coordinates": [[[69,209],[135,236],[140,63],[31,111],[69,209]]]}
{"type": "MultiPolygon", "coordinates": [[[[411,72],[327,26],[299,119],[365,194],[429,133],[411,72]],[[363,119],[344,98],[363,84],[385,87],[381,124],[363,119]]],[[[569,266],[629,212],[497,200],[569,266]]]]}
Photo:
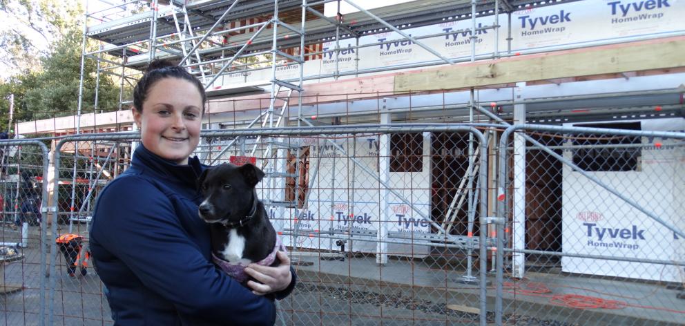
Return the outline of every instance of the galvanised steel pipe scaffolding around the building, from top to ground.
{"type": "MultiPolygon", "coordinates": [[[[392,6],[366,10],[353,0],[337,1],[307,1],[307,0],[265,0],[265,1],[233,1],[233,0],[209,0],[209,1],[126,1],[111,8],[98,10],[97,12],[87,12],[84,23],[84,43],[81,61],[81,81],[83,79],[84,61],[87,59],[97,62],[97,80],[100,74],[111,75],[119,79],[119,105],[118,109],[123,110],[131,106],[132,100],[126,98],[126,88],[133,86],[135,80],[146,68],[148,63],[157,58],[175,59],[180,65],[190,73],[196,75],[204,84],[208,98],[219,104],[224,99],[239,95],[262,95],[268,104],[260,104],[254,109],[257,114],[246,116],[243,119],[222,117],[220,113],[213,113],[209,109],[209,115],[205,119],[205,128],[278,128],[281,126],[315,126],[322,121],[329,121],[336,124],[336,117],[340,113],[311,115],[305,114],[303,102],[305,102],[306,88],[308,84],[320,82],[322,80],[338,80],[344,77],[358,77],[373,75],[387,71],[406,70],[408,68],[425,68],[436,65],[454,65],[459,62],[475,62],[503,57],[513,57],[521,55],[521,52],[512,53],[512,14],[517,10],[529,10],[530,8],[541,8],[544,6],[558,5],[559,3],[570,3],[574,1],[475,1],[475,0],[434,0],[427,6],[425,1],[405,1],[392,6]],[[142,4],[141,12],[132,13],[129,8],[133,5],[142,4]],[[334,15],[325,15],[325,6],[335,5],[334,15]],[[341,5],[351,6],[356,12],[341,14],[341,5]],[[507,21],[505,28],[501,26],[499,18],[505,14],[507,21]],[[476,19],[481,17],[494,17],[492,24],[483,26],[476,23],[476,19]],[[405,32],[409,28],[421,26],[432,26],[438,23],[449,23],[452,21],[470,21],[470,27],[462,30],[445,28],[443,32],[430,35],[412,36],[405,32]],[[93,23],[94,24],[90,24],[93,23]],[[270,29],[270,30],[269,30],[270,29]],[[500,38],[499,33],[505,30],[507,33],[506,48],[499,48],[499,42],[495,41],[491,51],[486,54],[476,52],[476,40],[480,33],[491,31],[494,39],[500,38]],[[380,35],[396,32],[401,36],[399,39],[381,39],[376,42],[360,44],[360,38],[368,35],[380,35]],[[470,54],[463,57],[450,57],[434,50],[425,44],[426,39],[435,37],[445,37],[462,33],[470,39],[470,54]],[[98,50],[86,50],[86,39],[97,39],[101,42],[98,50]],[[354,40],[354,46],[341,46],[342,41],[354,40]],[[334,42],[332,48],[324,48],[324,42],[334,42]],[[387,46],[405,42],[414,44],[432,55],[432,59],[426,61],[412,62],[411,64],[397,64],[374,68],[360,68],[359,52],[363,48],[387,46]],[[347,52],[346,52],[347,51],[347,52]],[[351,67],[340,66],[340,57],[343,53],[354,53],[354,65],[351,67]],[[334,63],[331,72],[305,73],[305,63],[311,59],[329,57],[334,63]],[[269,71],[268,75],[263,75],[262,79],[248,78],[251,74],[258,75],[258,72],[269,71]],[[284,73],[287,72],[287,73],[284,73]],[[243,82],[235,83],[235,77],[240,77],[243,82]],[[291,105],[296,104],[295,114],[290,114],[291,105]],[[316,120],[316,121],[315,121],[316,120]]],[[[635,40],[641,39],[635,37],[635,40]]],[[[606,41],[610,44],[612,41],[606,41]]],[[[595,42],[595,45],[601,43],[595,42]]],[[[561,48],[563,50],[563,48],[561,48]]],[[[543,50],[530,50],[523,54],[533,54],[537,52],[548,52],[543,50]]],[[[552,81],[555,83],[555,81],[552,81]]],[[[82,83],[81,83],[82,84],[82,83]]],[[[678,93],[681,90],[673,90],[678,93]]],[[[81,119],[81,97],[82,85],[79,90],[79,108],[77,113],[77,123],[75,133],[79,134],[81,119]]],[[[644,95],[644,92],[641,93],[644,95]]],[[[376,94],[376,99],[383,99],[385,102],[389,97],[400,96],[409,97],[409,113],[417,112],[411,108],[412,92],[403,94],[387,93],[376,94]],[[414,110],[414,111],[412,111],[414,110]]],[[[97,111],[97,91],[95,99],[95,111],[97,111]]],[[[371,98],[373,95],[368,95],[371,98]]],[[[557,99],[554,99],[557,100],[557,99]]],[[[567,100],[574,100],[568,98],[567,100]]],[[[346,103],[349,99],[344,100],[346,103]]],[[[539,100],[538,100],[539,101],[539,100]]],[[[444,102],[444,96],[443,96],[444,102]]],[[[503,106],[510,108],[506,111],[511,112],[514,102],[521,101],[501,100],[498,101],[493,111],[503,113],[503,106]]],[[[311,101],[309,102],[311,106],[311,101]]],[[[233,103],[233,106],[236,104],[233,103]]],[[[318,105],[318,104],[316,104],[318,105]]],[[[467,103],[463,106],[442,106],[422,107],[421,113],[416,117],[426,119],[426,121],[445,120],[445,109],[467,110],[467,116],[461,118],[465,122],[489,121],[498,122],[490,119],[485,113],[481,112],[483,105],[479,100],[479,93],[476,87],[468,90],[467,103]]],[[[669,112],[679,110],[679,107],[668,107],[669,112]]],[[[317,110],[318,111],[318,110],[317,110]]],[[[639,111],[639,109],[638,109],[639,111]]],[[[309,112],[309,111],[307,111],[309,112]]],[[[369,115],[378,113],[371,110],[367,113],[345,112],[349,117],[354,115],[369,115]]],[[[394,110],[394,115],[401,115],[401,110],[394,110]]],[[[543,113],[544,117],[550,113],[543,113]]],[[[381,114],[381,116],[383,116],[381,114]]],[[[385,119],[388,123],[392,118],[385,119]]],[[[372,121],[373,118],[372,118],[372,121]]],[[[377,120],[376,120],[377,121],[377,120]]],[[[568,120],[567,120],[568,121],[568,120]]],[[[354,122],[352,122],[354,123],[354,122]]],[[[117,124],[117,130],[119,124],[117,124]]],[[[135,129],[135,126],[133,126],[135,129]]],[[[126,130],[126,129],[124,129],[126,130]]],[[[97,128],[93,128],[93,132],[97,128]]],[[[470,136],[472,137],[472,136],[470,136]]],[[[488,137],[496,142],[496,135],[489,133],[488,137]]],[[[336,144],[332,143],[334,146],[336,144]]],[[[99,144],[104,151],[109,153],[105,162],[108,162],[112,153],[119,153],[124,157],[130,157],[133,146],[122,148],[115,144],[99,144]],[[110,146],[110,147],[108,147],[110,146]]],[[[286,179],[297,179],[300,175],[300,160],[294,160],[295,165],[290,171],[282,157],[294,155],[302,157],[300,150],[302,145],[298,142],[284,142],[276,137],[236,137],[232,140],[218,140],[217,142],[203,142],[198,146],[197,154],[205,162],[213,164],[225,159],[227,155],[238,157],[258,157],[260,166],[264,169],[266,177],[264,179],[264,192],[262,200],[267,207],[284,207],[295,209],[295,216],[298,216],[298,209],[307,207],[307,200],[298,207],[298,196],[294,200],[283,200],[284,193],[274,192],[274,189],[285,189],[286,179]],[[219,148],[216,151],[213,148],[219,148]],[[251,148],[247,148],[251,147],[251,148]],[[288,154],[287,154],[288,153],[288,154]],[[277,159],[281,157],[281,159],[277,159]]],[[[338,148],[345,151],[343,148],[338,148]]],[[[90,176],[95,175],[95,183],[101,178],[105,171],[105,164],[95,166],[95,146],[91,146],[90,155],[85,155],[86,160],[90,160],[90,176]],[[97,173],[94,170],[97,168],[97,173]]],[[[76,156],[84,151],[79,151],[75,144],[74,153],[76,156]]],[[[85,152],[84,152],[85,153],[85,152]]],[[[471,157],[469,167],[465,172],[463,182],[459,190],[451,200],[443,223],[434,227],[440,231],[436,236],[427,236],[424,240],[433,241],[436,239],[448,240],[449,242],[460,244],[472,250],[478,246],[477,239],[467,236],[451,236],[450,221],[456,219],[458,211],[465,206],[469,221],[469,233],[472,233],[476,215],[478,193],[473,189],[478,186],[474,184],[474,175],[478,173],[478,166],[474,164],[479,153],[479,149],[474,147],[473,140],[470,138],[468,144],[468,157],[471,157]]],[[[115,155],[116,156],[116,155],[115,155]]],[[[117,156],[119,157],[119,156],[117,156]]],[[[118,160],[118,159],[117,159],[118,160]]],[[[73,183],[77,183],[76,159],[73,170],[73,183]]],[[[361,169],[365,167],[359,162],[356,166],[361,169]]],[[[124,161],[125,164],[125,161],[124,161]]],[[[117,164],[119,169],[119,164],[117,164]]],[[[121,169],[125,169],[122,166],[121,169]]],[[[373,175],[372,175],[373,177],[373,175]]],[[[378,177],[376,177],[378,178],[378,177]]],[[[380,181],[380,179],[379,179],[380,181]]],[[[307,186],[294,182],[294,193],[299,193],[299,186],[307,186]]],[[[390,188],[389,185],[385,185],[390,188]]],[[[96,187],[89,184],[86,199],[94,198],[93,191],[96,187]]],[[[71,194],[70,221],[86,221],[90,218],[84,211],[89,210],[89,201],[85,200],[80,207],[75,207],[77,197],[76,187],[73,186],[71,194]]],[[[292,199],[292,198],[291,198],[292,199]]],[[[332,204],[331,204],[332,205],[332,204]]],[[[418,213],[418,211],[416,212],[418,213]]],[[[420,213],[427,222],[434,223],[430,216],[420,213]]],[[[71,227],[71,224],[70,224],[71,227]]],[[[291,231],[297,236],[300,232],[307,233],[311,230],[302,230],[299,223],[291,231]]],[[[331,231],[332,232],[332,231],[331,231]]],[[[354,232],[352,232],[354,233],[354,232]]],[[[379,234],[363,234],[359,236],[380,237],[379,234]]],[[[389,234],[391,237],[402,238],[401,234],[389,234]]],[[[380,239],[380,238],[379,238],[380,239]]],[[[382,250],[380,252],[383,252],[382,250]]],[[[470,257],[470,253],[469,253],[470,257]]],[[[380,259],[378,262],[385,262],[380,259]]],[[[469,264],[470,265],[470,264],[469,264]]],[[[465,282],[474,281],[470,274],[470,268],[464,278],[465,282]]]]}

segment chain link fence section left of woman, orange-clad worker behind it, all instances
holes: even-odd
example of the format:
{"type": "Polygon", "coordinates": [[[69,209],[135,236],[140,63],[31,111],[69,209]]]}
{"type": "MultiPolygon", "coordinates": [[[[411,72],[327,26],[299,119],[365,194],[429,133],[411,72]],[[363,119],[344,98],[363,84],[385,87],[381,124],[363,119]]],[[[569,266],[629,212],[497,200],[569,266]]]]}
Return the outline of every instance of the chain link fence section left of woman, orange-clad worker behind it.
{"type": "Polygon", "coordinates": [[[55,236],[50,265],[49,325],[111,325],[111,314],[102,282],[90,262],[88,227],[99,191],[130,164],[131,140],[80,135],[63,140],[55,151],[55,236]]]}

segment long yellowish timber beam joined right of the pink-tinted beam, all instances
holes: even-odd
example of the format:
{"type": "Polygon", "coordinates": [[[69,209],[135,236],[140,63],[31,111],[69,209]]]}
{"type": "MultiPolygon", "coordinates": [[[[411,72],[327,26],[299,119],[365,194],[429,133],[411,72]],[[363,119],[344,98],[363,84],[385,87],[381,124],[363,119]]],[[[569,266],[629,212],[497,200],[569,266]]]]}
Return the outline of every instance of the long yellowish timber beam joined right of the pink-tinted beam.
{"type": "Polygon", "coordinates": [[[685,37],[653,39],[398,73],[396,92],[452,90],[685,66],[685,37]]]}

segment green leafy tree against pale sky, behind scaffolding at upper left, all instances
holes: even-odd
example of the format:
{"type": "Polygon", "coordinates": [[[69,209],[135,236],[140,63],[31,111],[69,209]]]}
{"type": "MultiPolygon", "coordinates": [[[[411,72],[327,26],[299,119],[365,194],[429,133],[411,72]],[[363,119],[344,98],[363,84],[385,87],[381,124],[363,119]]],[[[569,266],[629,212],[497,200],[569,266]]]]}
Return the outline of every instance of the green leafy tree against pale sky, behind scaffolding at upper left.
{"type": "MultiPolygon", "coordinates": [[[[0,33],[0,64],[15,73],[0,81],[0,97],[15,95],[15,121],[75,115],[78,108],[81,70],[83,10],[75,0],[0,0],[0,15],[12,17],[17,26],[0,33]],[[12,35],[10,35],[12,34],[12,35]],[[14,35],[16,34],[16,35],[14,35]],[[29,37],[29,34],[39,35],[29,37]],[[41,41],[50,41],[49,46],[41,41]],[[7,48],[6,48],[7,45],[7,48]]],[[[88,50],[97,48],[89,40],[88,50]]],[[[86,59],[81,111],[95,109],[96,64],[86,59]]],[[[99,110],[118,108],[115,81],[100,75],[99,110]]],[[[8,123],[8,100],[0,102],[0,128],[8,123]]]]}

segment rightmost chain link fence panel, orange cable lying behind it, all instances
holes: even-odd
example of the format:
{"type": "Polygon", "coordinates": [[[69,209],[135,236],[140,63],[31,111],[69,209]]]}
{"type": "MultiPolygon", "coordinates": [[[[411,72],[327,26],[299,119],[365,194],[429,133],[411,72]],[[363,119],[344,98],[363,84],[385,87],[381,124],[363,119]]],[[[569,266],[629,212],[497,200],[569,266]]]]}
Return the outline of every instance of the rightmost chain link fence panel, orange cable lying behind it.
{"type": "Polygon", "coordinates": [[[589,126],[601,128],[503,135],[496,318],[682,324],[685,134],[655,120],[589,126]]]}

